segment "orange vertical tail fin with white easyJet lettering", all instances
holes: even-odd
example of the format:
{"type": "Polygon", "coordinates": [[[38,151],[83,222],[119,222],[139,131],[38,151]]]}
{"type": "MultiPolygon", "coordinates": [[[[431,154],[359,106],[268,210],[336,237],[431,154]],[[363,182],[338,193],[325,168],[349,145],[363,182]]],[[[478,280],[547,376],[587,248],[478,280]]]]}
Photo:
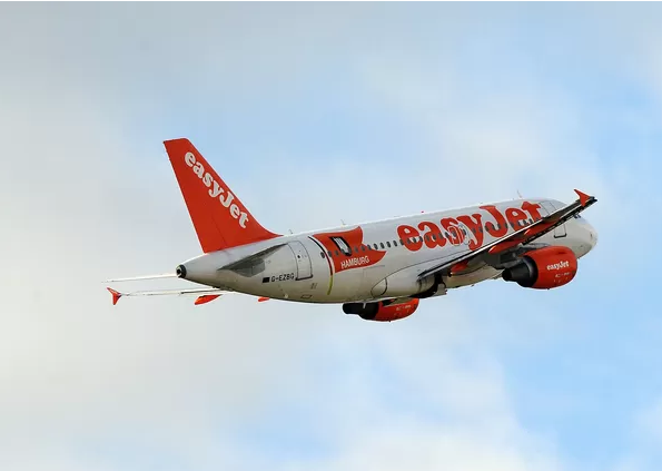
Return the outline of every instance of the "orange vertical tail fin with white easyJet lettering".
{"type": "Polygon", "coordinates": [[[259,225],[188,139],[164,145],[205,253],[278,237],[259,225]]]}

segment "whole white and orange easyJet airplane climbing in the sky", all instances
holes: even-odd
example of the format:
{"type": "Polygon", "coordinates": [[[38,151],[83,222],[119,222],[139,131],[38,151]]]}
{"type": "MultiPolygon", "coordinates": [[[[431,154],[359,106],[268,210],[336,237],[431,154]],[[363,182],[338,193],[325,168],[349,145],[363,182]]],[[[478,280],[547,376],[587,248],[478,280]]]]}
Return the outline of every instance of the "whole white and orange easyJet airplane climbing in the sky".
{"type": "Polygon", "coordinates": [[[202,254],[175,273],[204,287],[122,293],[197,295],[196,305],[226,294],[259,302],[342,304],[346,314],[391,322],[421,300],[488,279],[551,290],[570,283],[577,261],[597,243],[581,213],[596,199],[577,189],[563,204],[520,198],[358,225],[281,235],[263,227],[187,138],[164,141],[202,254]]]}

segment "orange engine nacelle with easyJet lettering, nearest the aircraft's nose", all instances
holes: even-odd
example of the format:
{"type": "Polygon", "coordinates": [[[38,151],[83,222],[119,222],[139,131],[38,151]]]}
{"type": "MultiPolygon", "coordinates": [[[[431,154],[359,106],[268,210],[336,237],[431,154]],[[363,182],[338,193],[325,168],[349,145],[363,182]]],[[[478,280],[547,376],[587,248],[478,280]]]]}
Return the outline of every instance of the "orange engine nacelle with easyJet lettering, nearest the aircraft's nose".
{"type": "Polygon", "coordinates": [[[506,282],[522,287],[551,290],[570,283],[577,273],[577,258],[567,247],[544,247],[526,253],[522,263],[502,273],[506,282]]]}

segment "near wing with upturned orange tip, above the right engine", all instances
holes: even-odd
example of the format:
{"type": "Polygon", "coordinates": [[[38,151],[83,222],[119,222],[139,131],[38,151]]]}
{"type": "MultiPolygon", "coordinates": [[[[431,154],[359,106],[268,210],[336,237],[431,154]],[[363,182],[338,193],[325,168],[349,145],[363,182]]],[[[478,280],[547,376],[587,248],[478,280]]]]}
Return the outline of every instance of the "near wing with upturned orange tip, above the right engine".
{"type": "Polygon", "coordinates": [[[432,275],[433,273],[443,273],[445,275],[452,276],[453,274],[457,274],[467,269],[470,264],[478,262],[481,258],[484,258],[485,255],[502,254],[530,244],[550,230],[554,230],[555,227],[562,225],[573,216],[580,214],[597,202],[595,197],[589,196],[577,189],[575,189],[575,193],[577,194],[579,199],[571,203],[570,205],[561,209],[556,209],[554,213],[534,222],[533,224],[524,226],[512,234],[505,235],[487,245],[484,245],[476,251],[460,255],[455,258],[445,261],[438,265],[427,268],[418,274],[418,278],[432,275]]]}

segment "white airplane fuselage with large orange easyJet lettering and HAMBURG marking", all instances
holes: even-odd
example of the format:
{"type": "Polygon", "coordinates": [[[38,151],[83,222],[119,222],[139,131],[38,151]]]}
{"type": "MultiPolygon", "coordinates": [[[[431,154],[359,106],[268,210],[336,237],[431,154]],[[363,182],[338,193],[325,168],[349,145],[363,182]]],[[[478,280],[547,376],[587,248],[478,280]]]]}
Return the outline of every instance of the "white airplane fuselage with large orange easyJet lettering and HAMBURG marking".
{"type": "MultiPolygon", "coordinates": [[[[182,266],[185,278],[191,282],[276,300],[346,303],[407,296],[415,293],[413,283],[422,271],[475,251],[563,206],[550,199],[517,199],[425,213],[280,236],[208,253],[182,266]],[[245,259],[270,247],[276,248],[245,259]],[[225,268],[239,261],[238,266],[225,268]]],[[[535,244],[565,246],[580,258],[596,239],[595,230],[579,217],[535,244]]],[[[454,288],[500,274],[484,265],[444,276],[443,283],[454,288]]]]}

